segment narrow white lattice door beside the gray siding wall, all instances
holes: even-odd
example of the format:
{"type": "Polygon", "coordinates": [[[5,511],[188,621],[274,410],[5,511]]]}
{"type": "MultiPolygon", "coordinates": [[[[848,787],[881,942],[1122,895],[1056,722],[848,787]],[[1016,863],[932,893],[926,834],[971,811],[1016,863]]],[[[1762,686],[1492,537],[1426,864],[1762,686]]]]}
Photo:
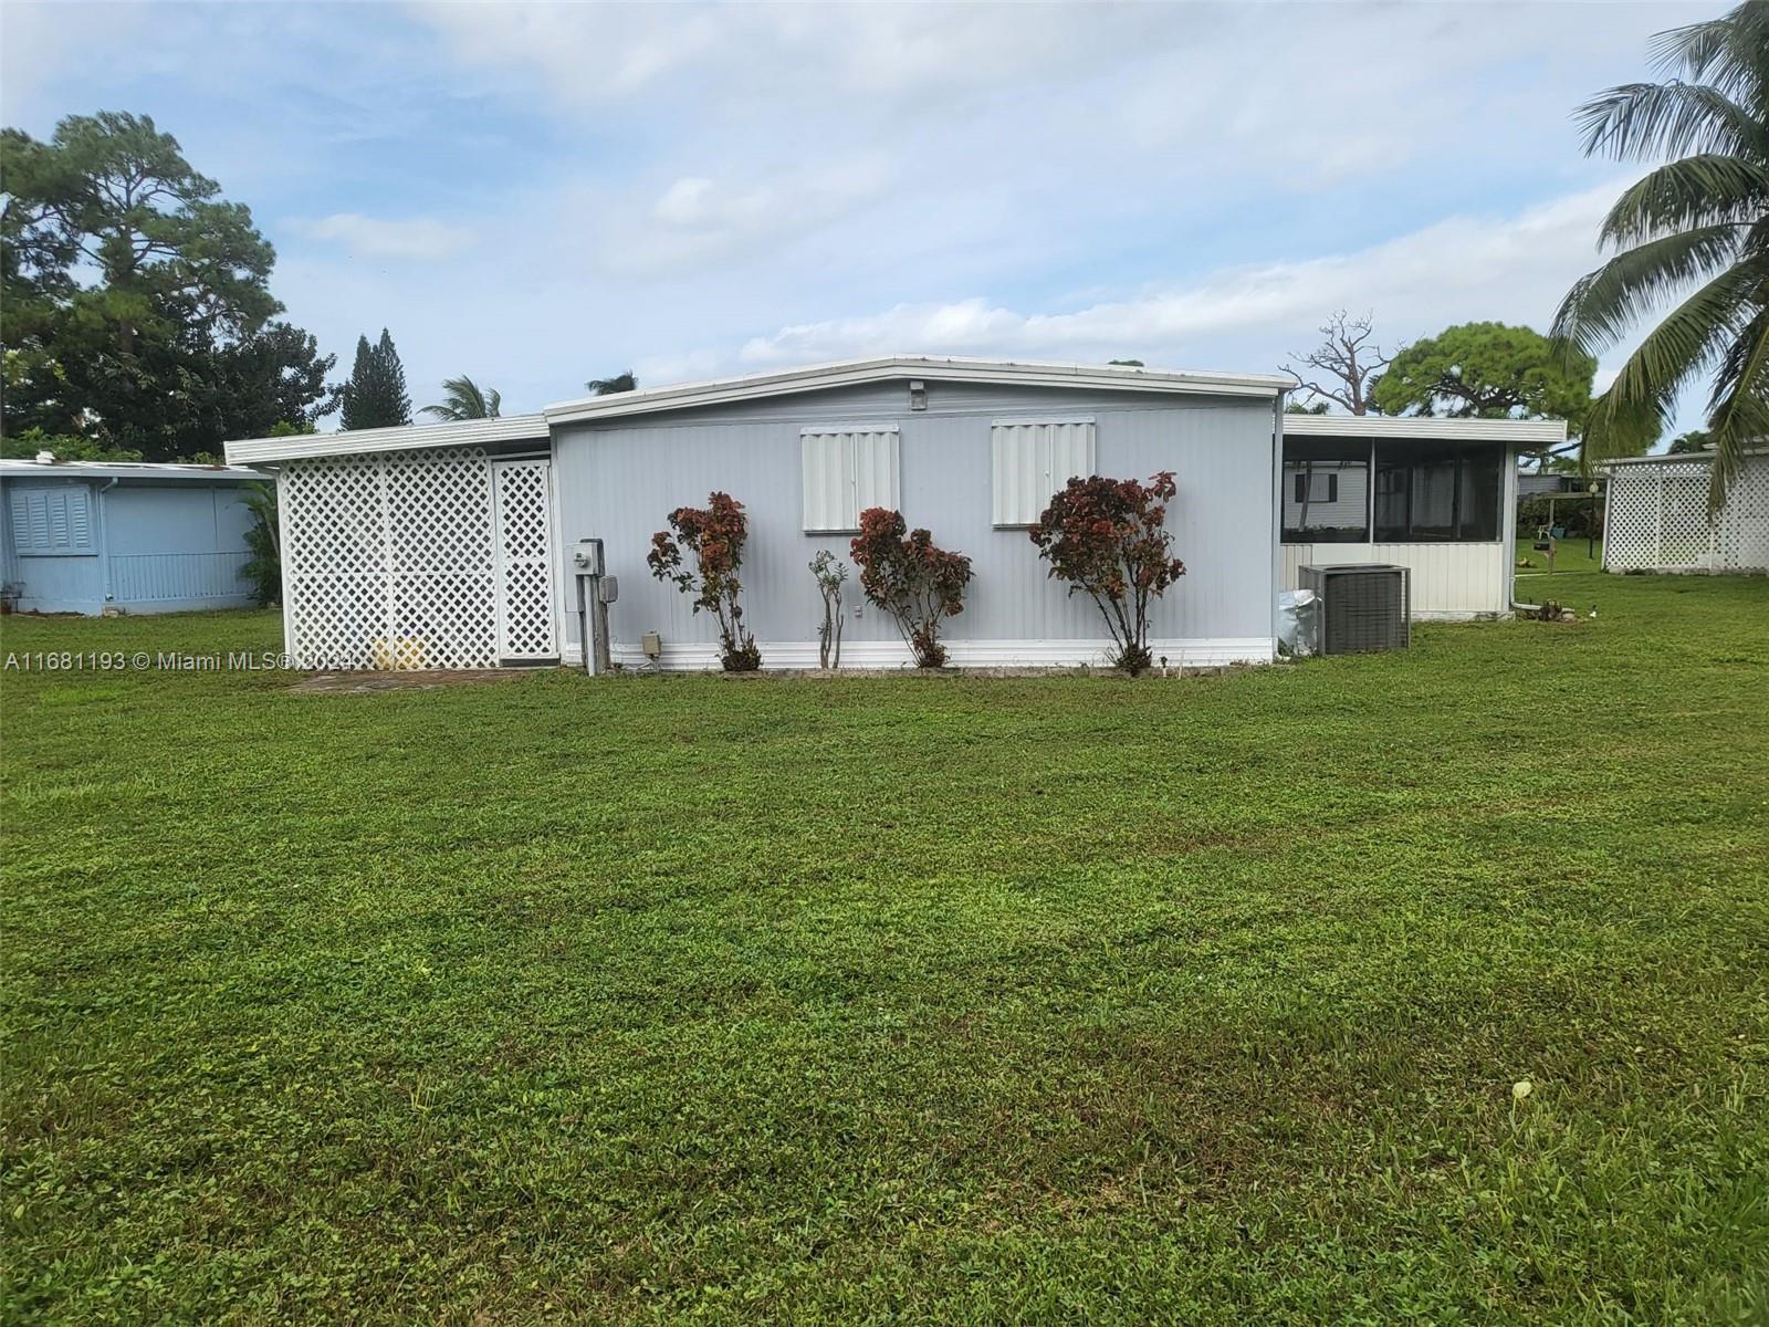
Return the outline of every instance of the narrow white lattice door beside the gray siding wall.
{"type": "Polygon", "coordinates": [[[554,621],[552,462],[492,462],[497,658],[559,658],[554,621]]]}

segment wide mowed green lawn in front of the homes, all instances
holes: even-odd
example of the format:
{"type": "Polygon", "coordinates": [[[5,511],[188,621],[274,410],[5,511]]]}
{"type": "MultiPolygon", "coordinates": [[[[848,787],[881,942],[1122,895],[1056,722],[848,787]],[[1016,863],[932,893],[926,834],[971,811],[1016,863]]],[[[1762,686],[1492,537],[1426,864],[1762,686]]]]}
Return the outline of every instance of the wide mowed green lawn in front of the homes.
{"type": "Polygon", "coordinates": [[[1564,580],[1185,681],[7,672],[4,1316],[1764,1322],[1769,580],[1564,580]]]}

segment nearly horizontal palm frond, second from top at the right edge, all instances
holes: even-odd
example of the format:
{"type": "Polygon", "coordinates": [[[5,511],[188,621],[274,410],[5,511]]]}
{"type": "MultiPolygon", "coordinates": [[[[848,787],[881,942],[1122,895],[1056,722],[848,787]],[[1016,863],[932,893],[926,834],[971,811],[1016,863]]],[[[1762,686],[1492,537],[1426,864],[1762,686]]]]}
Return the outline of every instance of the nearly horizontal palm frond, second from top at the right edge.
{"type": "Polygon", "coordinates": [[[1769,156],[1760,120],[1719,88],[1702,83],[1624,83],[1573,113],[1585,156],[1617,161],[1681,157],[1689,152],[1769,156]]]}

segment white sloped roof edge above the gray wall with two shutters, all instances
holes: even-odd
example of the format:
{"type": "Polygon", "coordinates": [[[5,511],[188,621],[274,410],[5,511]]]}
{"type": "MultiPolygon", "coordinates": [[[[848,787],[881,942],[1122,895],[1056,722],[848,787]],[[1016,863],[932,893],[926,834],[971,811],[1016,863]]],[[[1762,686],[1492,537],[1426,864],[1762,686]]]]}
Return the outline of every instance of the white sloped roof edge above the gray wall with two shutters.
{"type": "Polygon", "coordinates": [[[685,410],[722,405],[759,396],[785,396],[824,387],[849,387],[892,379],[932,382],[999,382],[1033,387],[1097,387],[1106,391],[1171,391],[1219,396],[1275,398],[1293,384],[1277,373],[1212,373],[1127,364],[1072,364],[1024,359],[964,359],[957,356],[879,356],[872,359],[837,359],[828,364],[766,370],[741,377],[681,382],[667,387],[640,387],[609,396],[584,396],[548,405],[550,425],[584,419],[610,419],[656,410],[685,410]]]}

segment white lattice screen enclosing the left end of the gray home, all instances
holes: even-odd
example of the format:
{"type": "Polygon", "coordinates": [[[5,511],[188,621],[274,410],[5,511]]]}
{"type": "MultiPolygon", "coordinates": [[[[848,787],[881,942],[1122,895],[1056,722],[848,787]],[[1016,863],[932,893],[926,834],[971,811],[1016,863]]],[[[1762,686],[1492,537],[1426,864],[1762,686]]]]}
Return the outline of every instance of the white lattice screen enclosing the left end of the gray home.
{"type": "Polygon", "coordinates": [[[494,462],[481,448],[292,462],[280,494],[295,662],[476,669],[555,653],[547,462],[502,465],[524,472],[499,522],[494,462]],[[501,527],[527,568],[504,584],[501,527]],[[504,649],[506,637],[522,648],[504,649]]]}

